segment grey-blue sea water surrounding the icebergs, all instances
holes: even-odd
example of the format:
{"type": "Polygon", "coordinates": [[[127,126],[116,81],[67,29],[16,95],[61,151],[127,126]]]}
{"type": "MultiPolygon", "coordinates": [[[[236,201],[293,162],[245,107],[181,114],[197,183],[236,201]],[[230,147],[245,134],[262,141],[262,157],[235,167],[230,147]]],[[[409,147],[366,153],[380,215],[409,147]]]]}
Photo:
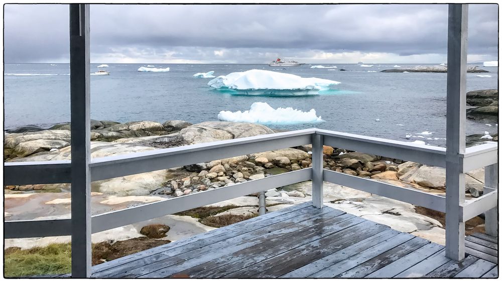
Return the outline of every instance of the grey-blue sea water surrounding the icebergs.
{"type": "MultiPolygon", "coordinates": [[[[276,129],[322,129],[388,138],[423,140],[444,146],[446,137],[446,73],[381,73],[395,64],[323,64],[336,69],[311,69],[306,64],[286,67],[250,64],[108,64],[109,76],[91,76],[91,118],[118,122],[181,119],[192,123],[218,120],[220,111],[245,111],[254,102],[273,108],[315,109],[325,121],[315,124],[268,124],[276,129]],[[138,72],[141,66],[169,67],[169,72],[138,72]],[[210,78],[193,74],[214,71],[215,76],[250,69],[290,73],[341,82],[322,95],[291,97],[232,95],[207,85],[210,78]],[[347,71],[339,71],[345,69],[347,71]],[[374,71],[374,72],[373,72],[374,71]],[[430,135],[420,134],[424,131],[430,135]],[[424,138],[406,135],[423,136],[424,138]],[[427,140],[431,138],[433,140],[427,140]],[[434,138],[438,138],[434,140],[434,138]]],[[[422,64],[426,66],[426,64],[422,64]]],[[[402,67],[417,65],[399,64],[402,67]]],[[[474,65],[469,65],[474,66],[474,65]]],[[[497,88],[495,67],[490,78],[467,74],[467,90],[497,88]]],[[[68,64],[5,64],[5,129],[34,124],[49,127],[70,120],[68,64]]],[[[485,75],[485,74],[483,74],[485,75]]],[[[467,134],[496,133],[484,122],[467,121],[467,134]]]]}

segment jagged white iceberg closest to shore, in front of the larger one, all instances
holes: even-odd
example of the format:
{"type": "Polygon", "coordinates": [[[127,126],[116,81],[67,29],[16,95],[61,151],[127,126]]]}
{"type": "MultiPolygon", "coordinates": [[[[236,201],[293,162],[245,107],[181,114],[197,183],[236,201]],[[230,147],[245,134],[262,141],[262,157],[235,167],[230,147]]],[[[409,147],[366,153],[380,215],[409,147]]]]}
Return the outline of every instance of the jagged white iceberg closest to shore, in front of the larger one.
{"type": "Polygon", "coordinates": [[[323,122],[321,117],[316,116],[314,109],[308,112],[293,108],[272,108],[269,104],[256,102],[248,111],[221,111],[218,119],[232,122],[252,122],[261,124],[300,124],[323,122]]]}

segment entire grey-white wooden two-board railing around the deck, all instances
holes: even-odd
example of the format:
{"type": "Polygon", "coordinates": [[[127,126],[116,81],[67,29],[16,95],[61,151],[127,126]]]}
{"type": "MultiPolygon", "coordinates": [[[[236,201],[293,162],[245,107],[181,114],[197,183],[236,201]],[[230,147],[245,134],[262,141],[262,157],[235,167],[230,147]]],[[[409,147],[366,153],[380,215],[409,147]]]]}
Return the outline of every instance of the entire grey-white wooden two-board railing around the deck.
{"type": "MultiPolygon", "coordinates": [[[[445,149],[441,147],[327,130],[306,129],[177,148],[159,149],[128,155],[96,158],[91,160],[89,167],[91,179],[97,181],[305,144],[313,144],[313,164],[316,161],[316,157],[317,161],[321,160],[322,162],[322,145],[440,167],[445,167],[446,164],[445,149]],[[316,138],[323,142],[312,142],[316,138]]],[[[464,170],[460,173],[465,173],[480,167],[496,165],[497,153],[498,144],[495,142],[486,142],[482,145],[468,148],[465,154],[460,155],[464,163],[464,170]]],[[[5,163],[4,185],[68,183],[70,182],[71,170],[68,164],[67,161],[5,163]]],[[[496,169],[487,169],[486,171],[496,171],[496,169]]],[[[445,197],[323,169],[321,164],[313,165],[312,168],[269,176],[264,179],[247,181],[160,202],[94,215],[92,216],[92,233],[232,199],[238,196],[311,180],[314,178],[313,175],[315,174],[321,175],[321,179],[327,182],[423,206],[440,212],[446,211],[445,197]]],[[[487,177],[494,177],[494,183],[496,183],[496,175],[492,173],[491,176],[487,175],[487,177]]],[[[322,189],[322,181],[313,181],[313,185],[318,185],[322,189]]],[[[461,218],[459,218],[459,222],[465,222],[482,212],[496,207],[496,187],[489,188],[492,189],[482,197],[466,202],[457,201],[460,214],[462,215],[461,218]]],[[[322,203],[322,193],[313,193],[312,201],[314,205],[316,205],[315,202],[322,203]]],[[[6,221],[5,238],[70,235],[70,226],[71,219],[6,221]]],[[[448,244],[448,242],[446,242],[446,244],[448,244]]]]}

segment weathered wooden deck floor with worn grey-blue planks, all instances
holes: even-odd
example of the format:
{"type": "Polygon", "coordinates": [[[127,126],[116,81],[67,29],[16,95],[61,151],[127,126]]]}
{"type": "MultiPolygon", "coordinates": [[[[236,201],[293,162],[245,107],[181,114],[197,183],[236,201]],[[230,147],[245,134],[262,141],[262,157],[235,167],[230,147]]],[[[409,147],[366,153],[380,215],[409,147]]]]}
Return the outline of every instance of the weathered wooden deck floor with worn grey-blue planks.
{"type": "Polygon", "coordinates": [[[454,261],[443,245],[305,203],[96,265],[92,277],[498,277],[497,238],[465,245],[454,261]]]}

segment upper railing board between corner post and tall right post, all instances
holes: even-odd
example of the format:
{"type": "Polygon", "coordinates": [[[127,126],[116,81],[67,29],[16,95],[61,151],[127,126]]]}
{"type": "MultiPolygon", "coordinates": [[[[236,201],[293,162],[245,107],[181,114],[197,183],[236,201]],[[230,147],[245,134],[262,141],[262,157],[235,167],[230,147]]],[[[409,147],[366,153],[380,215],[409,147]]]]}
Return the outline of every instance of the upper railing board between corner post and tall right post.
{"type": "Polygon", "coordinates": [[[316,132],[331,147],[445,167],[445,148],[329,130],[316,132]]]}

